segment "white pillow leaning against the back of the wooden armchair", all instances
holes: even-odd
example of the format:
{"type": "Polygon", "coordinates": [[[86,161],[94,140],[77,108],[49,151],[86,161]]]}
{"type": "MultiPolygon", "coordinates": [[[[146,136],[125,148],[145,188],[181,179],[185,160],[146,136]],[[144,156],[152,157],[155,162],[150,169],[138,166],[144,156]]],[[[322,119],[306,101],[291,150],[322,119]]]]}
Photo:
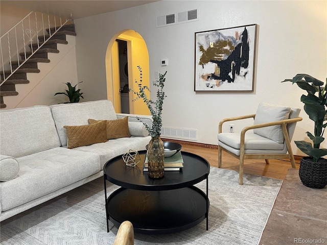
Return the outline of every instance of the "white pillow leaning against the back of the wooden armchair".
{"type": "MultiPolygon", "coordinates": [[[[291,107],[260,103],[255,113],[254,125],[288,119],[290,111],[291,107]]],[[[281,125],[254,129],[253,132],[278,143],[284,142],[284,135],[281,125]]]]}

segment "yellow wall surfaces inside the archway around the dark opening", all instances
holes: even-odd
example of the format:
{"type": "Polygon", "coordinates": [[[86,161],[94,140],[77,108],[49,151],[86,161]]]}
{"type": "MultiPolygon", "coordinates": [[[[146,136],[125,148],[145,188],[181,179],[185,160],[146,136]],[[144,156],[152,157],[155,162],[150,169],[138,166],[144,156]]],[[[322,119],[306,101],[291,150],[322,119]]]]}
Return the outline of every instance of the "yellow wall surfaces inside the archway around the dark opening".
{"type": "MultiPolygon", "coordinates": [[[[118,107],[118,105],[115,105],[114,103],[116,95],[114,95],[113,92],[113,77],[116,76],[116,74],[113,72],[119,72],[119,70],[113,69],[116,59],[112,56],[111,47],[116,39],[127,41],[129,87],[138,91],[137,84],[135,83],[135,81],[139,81],[139,71],[137,68],[138,65],[142,67],[143,85],[150,87],[149,53],[144,39],[141,35],[133,30],[125,30],[116,34],[110,40],[106,52],[107,96],[108,100],[112,101],[115,109],[118,107]]],[[[147,95],[150,98],[150,92],[148,92],[147,95]]],[[[129,108],[131,114],[150,115],[150,111],[142,99],[133,102],[132,100],[136,97],[133,92],[129,92],[129,97],[129,108]]]]}

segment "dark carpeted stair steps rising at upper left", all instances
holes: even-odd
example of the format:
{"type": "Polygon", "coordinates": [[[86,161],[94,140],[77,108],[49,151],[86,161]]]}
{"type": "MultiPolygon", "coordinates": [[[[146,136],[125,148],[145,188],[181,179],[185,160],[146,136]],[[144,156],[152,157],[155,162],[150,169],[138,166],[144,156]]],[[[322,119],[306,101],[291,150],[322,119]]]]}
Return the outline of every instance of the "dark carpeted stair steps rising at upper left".
{"type": "MultiPolygon", "coordinates": [[[[32,54],[32,50],[36,50],[38,46],[43,44],[42,40],[46,40],[50,37],[49,33],[54,33],[58,30],[56,28],[46,29],[47,35],[38,36],[39,43],[29,44],[31,52],[22,52],[19,53],[21,60],[12,61],[11,67],[12,70],[16,69],[22,61],[25,61],[26,57],[29,57],[32,54]]],[[[66,35],[76,36],[75,25],[65,24],[62,26],[57,33],[55,33],[48,41],[46,41],[35,54],[33,54],[24,64],[22,64],[5,82],[5,77],[8,77],[11,74],[11,70],[2,70],[1,71],[1,83],[0,86],[0,108],[6,108],[4,103],[4,96],[15,96],[18,95],[16,91],[16,84],[28,84],[30,81],[27,79],[28,73],[39,73],[38,63],[50,63],[48,59],[48,53],[59,53],[57,49],[57,44],[68,44],[66,41],[66,35]]]]}

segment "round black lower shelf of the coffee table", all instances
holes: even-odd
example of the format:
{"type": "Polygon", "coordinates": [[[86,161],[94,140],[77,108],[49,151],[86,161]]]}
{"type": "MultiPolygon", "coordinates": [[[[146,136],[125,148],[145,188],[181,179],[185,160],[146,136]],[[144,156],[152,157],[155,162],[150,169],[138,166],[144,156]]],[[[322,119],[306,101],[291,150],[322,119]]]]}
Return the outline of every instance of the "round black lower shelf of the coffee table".
{"type": "Polygon", "coordinates": [[[161,191],[119,188],[106,203],[107,217],[119,227],[129,220],[134,232],[168,234],[183,231],[207,218],[206,194],[195,186],[161,191]]]}

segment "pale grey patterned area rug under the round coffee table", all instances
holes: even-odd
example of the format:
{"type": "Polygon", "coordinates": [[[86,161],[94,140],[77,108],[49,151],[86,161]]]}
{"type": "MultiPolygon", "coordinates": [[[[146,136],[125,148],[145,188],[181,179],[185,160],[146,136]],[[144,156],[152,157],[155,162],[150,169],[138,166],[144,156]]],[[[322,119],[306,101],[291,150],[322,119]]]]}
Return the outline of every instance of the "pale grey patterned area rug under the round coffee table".
{"type": "MultiPolygon", "coordinates": [[[[169,235],[135,233],[135,244],[258,244],[281,180],[211,167],[209,230],[206,220],[169,235]]],[[[108,193],[119,188],[108,183],[108,193]]],[[[205,191],[206,183],[196,185],[205,191]]],[[[99,178],[1,223],[1,244],[113,244],[118,229],[107,233],[103,178],[99,178]]]]}

